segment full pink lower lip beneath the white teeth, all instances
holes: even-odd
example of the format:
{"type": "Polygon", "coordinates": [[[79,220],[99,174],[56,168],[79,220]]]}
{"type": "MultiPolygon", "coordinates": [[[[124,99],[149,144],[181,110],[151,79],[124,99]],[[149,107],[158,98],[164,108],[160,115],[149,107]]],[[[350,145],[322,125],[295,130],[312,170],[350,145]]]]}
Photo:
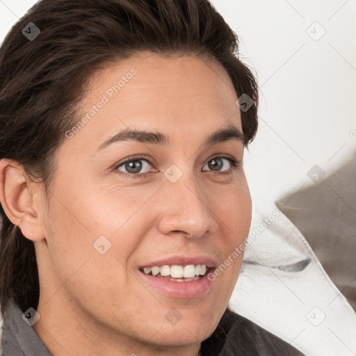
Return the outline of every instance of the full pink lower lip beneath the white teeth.
{"type": "Polygon", "coordinates": [[[203,294],[209,293],[211,289],[211,284],[213,281],[208,279],[208,273],[200,278],[200,280],[189,281],[189,282],[175,282],[170,280],[165,280],[164,278],[157,278],[153,275],[146,275],[144,272],[138,270],[140,276],[149,284],[151,284],[154,289],[159,290],[166,296],[173,298],[197,298],[203,294]]]}

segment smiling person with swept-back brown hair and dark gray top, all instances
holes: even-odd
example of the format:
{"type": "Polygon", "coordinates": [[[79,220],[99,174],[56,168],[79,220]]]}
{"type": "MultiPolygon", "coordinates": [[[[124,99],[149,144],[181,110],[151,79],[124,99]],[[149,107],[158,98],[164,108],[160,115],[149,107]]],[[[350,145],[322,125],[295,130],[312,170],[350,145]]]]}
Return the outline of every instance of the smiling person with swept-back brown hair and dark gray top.
{"type": "Polygon", "coordinates": [[[3,355],[302,355],[228,307],[258,92],[209,1],[42,0],[0,67],[3,355]]]}

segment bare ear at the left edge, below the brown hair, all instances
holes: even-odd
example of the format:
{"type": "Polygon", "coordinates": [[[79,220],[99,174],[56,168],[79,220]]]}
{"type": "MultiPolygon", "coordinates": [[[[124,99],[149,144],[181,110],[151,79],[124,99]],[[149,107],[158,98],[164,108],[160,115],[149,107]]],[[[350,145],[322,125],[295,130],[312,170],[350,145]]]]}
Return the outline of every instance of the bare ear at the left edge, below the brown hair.
{"type": "Polygon", "coordinates": [[[44,230],[33,209],[33,183],[24,167],[10,159],[0,160],[0,202],[6,216],[31,241],[44,240],[44,230]]]}

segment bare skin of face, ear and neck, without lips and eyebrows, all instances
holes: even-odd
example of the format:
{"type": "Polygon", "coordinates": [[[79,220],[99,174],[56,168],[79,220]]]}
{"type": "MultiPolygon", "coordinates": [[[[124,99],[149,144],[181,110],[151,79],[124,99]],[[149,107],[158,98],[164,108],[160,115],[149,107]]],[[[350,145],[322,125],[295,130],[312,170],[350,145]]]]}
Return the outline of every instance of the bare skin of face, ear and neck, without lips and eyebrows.
{"type": "Polygon", "coordinates": [[[139,279],[143,263],[174,254],[222,264],[248,236],[251,200],[242,165],[234,169],[223,159],[220,171],[228,175],[208,165],[216,154],[242,161],[244,150],[238,140],[203,145],[224,124],[242,131],[236,92],[216,60],[141,54],[111,64],[92,76],[81,112],[132,67],[137,74],[60,145],[48,207],[42,184],[17,162],[0,161],[3,209],[35,243],[41,317],[33,328],[55,356],[195,356],[241,269],[242,254],[209,293],[189,300],[139,279]],[[126,127],[168,134],[170,146],[127,140],[97,151],[126,127]],[[115,169],[140,154],[150,157],[140,161],[146,177],[115,169]],[[172,164],[183,172],[175,184],[164,175],[172,164]],[[105,254],[92,245],[102,235],[112,244],[105,254]],[[181,314],[175,325],[165,318],[171,308],[181,314]]]}

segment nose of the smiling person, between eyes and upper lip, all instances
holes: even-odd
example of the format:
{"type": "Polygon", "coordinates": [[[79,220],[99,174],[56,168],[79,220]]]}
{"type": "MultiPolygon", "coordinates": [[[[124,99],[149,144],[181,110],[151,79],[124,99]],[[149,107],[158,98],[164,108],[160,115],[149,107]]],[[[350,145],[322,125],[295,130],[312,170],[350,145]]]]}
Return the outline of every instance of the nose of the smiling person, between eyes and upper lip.
{"type": "Polygon", "coordinates": [[[216,229],[216,216],[209,205],[206,191],[193,175],[184,174],[178,181],[167,180],[161,189],[164,203],[159,231],[162,234],[182,234],[186,238],[200,238],[216,229]]]}

